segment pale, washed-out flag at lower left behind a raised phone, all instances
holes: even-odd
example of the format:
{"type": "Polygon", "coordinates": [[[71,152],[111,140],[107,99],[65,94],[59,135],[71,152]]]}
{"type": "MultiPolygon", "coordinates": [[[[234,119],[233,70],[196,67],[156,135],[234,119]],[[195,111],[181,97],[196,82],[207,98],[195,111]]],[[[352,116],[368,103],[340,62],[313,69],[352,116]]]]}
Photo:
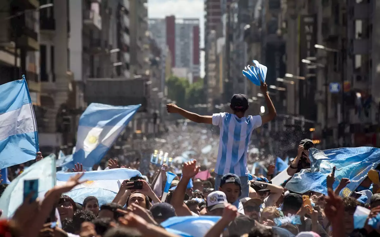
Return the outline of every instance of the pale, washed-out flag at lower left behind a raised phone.
{"type": "Polygon", "coordinates": [[[38,197],[43,199],[45,193],[55,185],[55,159],[50,156],[45,157],[12,180],[0,198],[2,218],[12,217],[17,207],[24,202],[24,180],[32,179],[38,179],[38,197]]]}

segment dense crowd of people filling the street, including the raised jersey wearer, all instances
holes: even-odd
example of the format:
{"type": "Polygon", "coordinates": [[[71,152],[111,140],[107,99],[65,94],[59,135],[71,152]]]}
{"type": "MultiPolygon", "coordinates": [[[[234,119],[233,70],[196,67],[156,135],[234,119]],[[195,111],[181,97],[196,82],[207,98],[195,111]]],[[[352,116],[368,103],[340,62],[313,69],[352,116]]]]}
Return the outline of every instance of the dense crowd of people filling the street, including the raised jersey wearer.
{"type": "MultiPolygon", "coordinates": [[[[290,176],[288,180],[272,183],[280,173],[272,162],[268,162],[271,165],[266,172],[250,174],[248,165],[254,161],[247,152],[250,136],[255,128],[276,116],[266,84],[261,83],[261,91],[268,107],[268,114],[262,116],[245,116],[248,99],[242,94],[231,99],[232,114],[201,116],[167,105],[169,113],[218,126],[219,141],[215,136],[206,140],[207,131],[200,132],[197,140],[188,139],[196,129],[176,127],[182,129],[183,140],[188,142],[171,143],[176,138],[168,135],[162,149],[185,152],[198,146],[198,150],[204,148],[203,152],[182,155],[185,160],[180,166],[152,165],[152,176],[142,174],[123,180],[109,203],[100,203],[100,196],[91,195],[75,202],[67,195],[87,182],[82,179],[86,172],[101,172],[84,171],[78,163],[63,185],[54,186],[43,199],[33,199],[34,194],[28,194],[12,217],[0,220],[0,237],[380,236],[377,168],[370,170],[359,187],[344,197],[339,195],[350,179],[336,180],[335,168],[326,178],[327,195],[311,190],[303,193],[287,190],[288,180],[310,169],[309,149],[314,144],[304,139],[299,143],[297,156],[285,169],[290,176]],[[209,144],[212,148],[205,149],[209,144]],[[176,173],[173,180],[169,179],[168,175],[173,175],[170,171],[176,173]],[[207,175],[199,176],[204,171],[207,175]],[[335,181],[339,181],[337,187],[333,187],[335,181]],[[361,225],[358,210],[369,213],[361,225]]],[[[43,159],[38,153],[36,164],[43,159]]],[[[107,170],[128,171],[115,159],[110,159],[107,166],[107,170]]],[[[0,194],[11,185],[2,184],[0,194]]]]}

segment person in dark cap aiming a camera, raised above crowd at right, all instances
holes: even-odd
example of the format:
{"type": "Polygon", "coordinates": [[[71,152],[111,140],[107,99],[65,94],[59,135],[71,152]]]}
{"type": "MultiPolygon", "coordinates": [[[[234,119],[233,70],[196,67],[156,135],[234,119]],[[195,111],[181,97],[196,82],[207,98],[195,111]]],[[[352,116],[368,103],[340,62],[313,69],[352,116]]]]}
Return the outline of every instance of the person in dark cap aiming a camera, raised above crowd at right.
{"type": "Polygon", "coordinates": [[[290,163],[287,173],[290,176],[298,173],[302,169],[310,168],[309,149],[314,148],[312,140],[304,139],[299,143],[297,157],[290,163]]]}

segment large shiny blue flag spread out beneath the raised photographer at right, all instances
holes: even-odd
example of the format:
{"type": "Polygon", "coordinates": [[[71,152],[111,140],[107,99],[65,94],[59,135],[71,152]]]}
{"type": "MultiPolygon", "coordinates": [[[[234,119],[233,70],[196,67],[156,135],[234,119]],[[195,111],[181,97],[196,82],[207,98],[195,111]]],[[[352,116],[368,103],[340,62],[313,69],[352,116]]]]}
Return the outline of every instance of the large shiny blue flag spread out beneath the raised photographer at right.
{"type": "Polygon", "coordinates": [[[308,190],[327,195],[326,177],[336,166],[334,189],[342,178],[350,183],[340,196],[350,196],[367,177],[368,171],[380,163],[380,149],[373,147],[339,148],[320,151],[309,149],[310,169],[303,169],[289,180],[285,188],[296,193],[308,190]]]}

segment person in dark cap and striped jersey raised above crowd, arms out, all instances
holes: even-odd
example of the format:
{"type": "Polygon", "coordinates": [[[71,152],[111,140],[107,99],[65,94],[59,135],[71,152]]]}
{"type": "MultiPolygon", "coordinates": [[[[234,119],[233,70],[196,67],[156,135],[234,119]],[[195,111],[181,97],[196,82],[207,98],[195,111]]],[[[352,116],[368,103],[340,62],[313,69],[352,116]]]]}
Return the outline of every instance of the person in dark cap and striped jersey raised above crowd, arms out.
{"type": "Polygon", "coordinates": [[[215,190],[219,190],[223,175],[233,173],[239,176],[242,185],[240,198],[248,197],[247,151],[253,129],[260,127],[275,118],[276,110],[269,98],[266,83],[261,83],[261,93],[264,94],[268,113],[265,115],[245,116],[249,108],[248,97],[244,94],[234,94],[230,108],[233,113],[216,113],[212,116],[202,116],[186,111],[174,104],[166,105],[169,113],[179,113],[185,118],[205,124],[220,127],[218,158],[215,167],[215,190]]]}

